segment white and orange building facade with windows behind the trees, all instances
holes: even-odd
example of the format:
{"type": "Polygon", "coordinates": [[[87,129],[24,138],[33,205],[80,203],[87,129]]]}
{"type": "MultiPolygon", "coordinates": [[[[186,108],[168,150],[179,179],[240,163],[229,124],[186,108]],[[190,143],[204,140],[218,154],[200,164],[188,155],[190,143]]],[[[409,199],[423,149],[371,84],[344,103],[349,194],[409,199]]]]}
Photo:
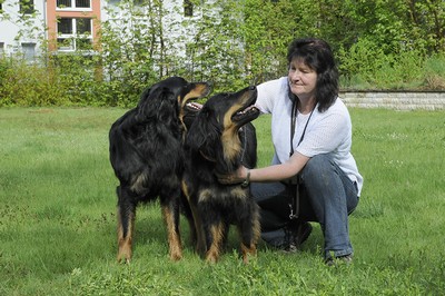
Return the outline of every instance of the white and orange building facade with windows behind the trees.
{"type": "MultiPolygon", "coordinates": [[[[33,59],[44,50],[95,50],[101,22],[109,17],[107,8],[117,8],[119,2],[121,1],[0,0],[0,55],[19,53],[27,59],[33,59]]],[[[135,0],[135,3],[138,2],[141,0],[135,0]]],[[[194,7],[189,0],[166,0],[162,4],[172,12],[167,19],[177,21],[178,18],[194,17],[194,7]],[[174,7],[179,9],[172,9],[174,7]]],[[[125,12],[120,17],[125,18],[125,12]]]]}

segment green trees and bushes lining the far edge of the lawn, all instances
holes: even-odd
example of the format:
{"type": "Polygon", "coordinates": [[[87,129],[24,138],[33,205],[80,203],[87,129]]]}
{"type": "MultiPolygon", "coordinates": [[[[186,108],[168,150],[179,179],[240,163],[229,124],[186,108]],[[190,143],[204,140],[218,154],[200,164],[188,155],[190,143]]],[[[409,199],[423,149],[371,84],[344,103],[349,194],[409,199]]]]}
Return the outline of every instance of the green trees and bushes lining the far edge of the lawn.
{"type": "MultiPolygon", "coordinates": [[[[112,2],[96,52],[0,58],[0,106],[129,107],[168,76],[234,91],[286,75],[288,43],[309,36],[332,45],[344,89],[445,89],[445,1],[194,0],[184,19],[171,19],[180,4],[112,2]]],[[[19,20],[17,39],[41,32],[36,17],[19,20]]]]}

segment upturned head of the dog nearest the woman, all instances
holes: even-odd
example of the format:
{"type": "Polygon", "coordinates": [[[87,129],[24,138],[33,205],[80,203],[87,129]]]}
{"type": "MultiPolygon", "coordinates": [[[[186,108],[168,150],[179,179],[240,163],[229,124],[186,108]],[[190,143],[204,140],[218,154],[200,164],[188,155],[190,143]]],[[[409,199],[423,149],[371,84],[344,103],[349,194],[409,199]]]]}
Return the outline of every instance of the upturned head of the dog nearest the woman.
{"type": "Polygon", "coordinates": [[[243,149],[239,129],[259,116],[256,99],[256,87],[209,98],[190,127],[187,146],[207,160],[226,164],[225,170],[234,169],[243,149]]]}

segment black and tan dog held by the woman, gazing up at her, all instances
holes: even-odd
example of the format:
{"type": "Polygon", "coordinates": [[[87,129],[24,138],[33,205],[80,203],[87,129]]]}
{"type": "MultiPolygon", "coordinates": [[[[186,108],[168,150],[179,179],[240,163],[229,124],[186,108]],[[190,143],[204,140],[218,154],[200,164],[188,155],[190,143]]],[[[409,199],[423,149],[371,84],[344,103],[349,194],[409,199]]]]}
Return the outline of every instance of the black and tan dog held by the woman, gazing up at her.
{"type": "Polygon", "coordinates": [[[249,188],[221,185],[216,177],[241,164],[256,166],[256,134],[250,124],[259,115],[256,97],[255,87],[211,97],[186,136],[182,190],[195,219],[197,250],[207,262],[218,260],[230,224],[238,228],[243,260],[256,254],[259,214],[249,188]]]}

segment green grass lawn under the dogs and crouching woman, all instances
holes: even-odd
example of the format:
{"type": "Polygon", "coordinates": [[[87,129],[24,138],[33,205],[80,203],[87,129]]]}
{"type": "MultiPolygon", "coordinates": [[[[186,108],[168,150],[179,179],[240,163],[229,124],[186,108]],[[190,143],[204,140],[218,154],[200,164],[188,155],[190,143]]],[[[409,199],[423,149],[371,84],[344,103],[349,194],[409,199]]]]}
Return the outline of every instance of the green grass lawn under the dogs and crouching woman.
{"type": "MultiPolygon", "coordinates": [[[[365,186],[355,260],[328,268],[318,225],[304,250],[259,245],[244,266],[230,234],[217,265],[168,259],[157,204],[140,207],[134,260],[116,263],[117,179],[108,129],[123,109],[0,109],[0,295],[439,295],[445,290],[445,111],[352,109],[365,186]]],[[[255,121],[259,166],[269,118],[255,121]]]]}

